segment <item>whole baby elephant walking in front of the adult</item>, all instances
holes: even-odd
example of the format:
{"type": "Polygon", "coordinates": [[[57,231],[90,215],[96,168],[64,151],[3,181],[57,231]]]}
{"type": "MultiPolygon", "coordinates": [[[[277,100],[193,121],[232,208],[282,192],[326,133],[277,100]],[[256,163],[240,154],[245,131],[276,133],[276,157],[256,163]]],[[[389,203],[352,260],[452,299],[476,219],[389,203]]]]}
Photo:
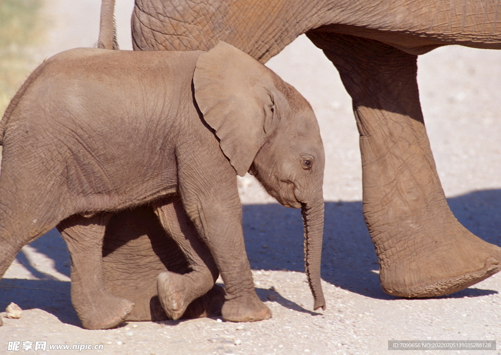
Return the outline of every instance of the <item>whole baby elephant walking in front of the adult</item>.
{"type": "Polygon", "coordinates": [[[235,172],[247,171],[284,206],[302,208],[314,308],[325,307],[317,120],[299,92],[235,47],[59,53],[14,96],[0,142],[0,276],[23,245],[58,226],[72,255],[72,299],[84,327],[116,326],[132,309],[104,286],[102,239],[109,212],[145,203],[196,271],[159,275],[169,317],[209,291],[217,269],[224,319],[271,317],[243,242],[235,172]],[[183,232],[186,225],[193,230],[183,232]],[[196,256],[203,248],[212,257],[196,256]],[[76,302],[74,293],[83,298],[76,302]]]}

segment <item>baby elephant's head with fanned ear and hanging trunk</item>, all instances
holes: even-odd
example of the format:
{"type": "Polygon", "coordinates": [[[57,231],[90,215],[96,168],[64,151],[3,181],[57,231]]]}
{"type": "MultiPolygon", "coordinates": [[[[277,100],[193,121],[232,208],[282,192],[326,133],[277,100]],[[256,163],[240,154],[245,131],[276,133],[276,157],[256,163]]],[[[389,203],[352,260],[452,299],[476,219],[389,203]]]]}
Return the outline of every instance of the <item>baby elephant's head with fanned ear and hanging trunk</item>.
{"type": "Polygon", "coordinates": [[[284,206],[302,208],[314,308],[325,308],[320,285],[325,155],[310,104],[272,70],[222,41],[200,55],[193,83],[198,107],[236,173],[252,173],[284,206]]]}

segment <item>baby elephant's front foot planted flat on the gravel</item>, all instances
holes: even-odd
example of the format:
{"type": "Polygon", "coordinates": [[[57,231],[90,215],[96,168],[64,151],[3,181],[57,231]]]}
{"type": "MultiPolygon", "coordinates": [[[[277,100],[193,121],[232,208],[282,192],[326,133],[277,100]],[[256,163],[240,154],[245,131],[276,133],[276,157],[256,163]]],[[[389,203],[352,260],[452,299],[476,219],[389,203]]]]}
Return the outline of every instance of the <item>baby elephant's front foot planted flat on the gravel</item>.
{"type": "Polygon", "coordinates": [[[257,321],[272,317],[272,311],[263,303],[256,292],[227,299],[222,305],[221,314],[229,321],[257,321]]]}

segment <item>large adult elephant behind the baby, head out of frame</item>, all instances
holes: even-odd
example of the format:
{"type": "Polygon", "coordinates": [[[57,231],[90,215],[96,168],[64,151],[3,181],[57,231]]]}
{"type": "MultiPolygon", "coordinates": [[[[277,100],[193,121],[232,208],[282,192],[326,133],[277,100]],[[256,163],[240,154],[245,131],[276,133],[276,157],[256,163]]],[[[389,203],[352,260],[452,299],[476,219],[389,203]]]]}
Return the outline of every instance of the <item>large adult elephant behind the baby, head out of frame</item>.
{"type": "Polygon", "coordinates": [[[224,40],[261,62],[298,35],[339,70],[360,132],[364,217],[389,294],[448,294],[501,269],[501,248],[450,211],[424,127],[418,54],[501,49],[498,0],[136,0],[137,50],[208,50],[224,40]]]}

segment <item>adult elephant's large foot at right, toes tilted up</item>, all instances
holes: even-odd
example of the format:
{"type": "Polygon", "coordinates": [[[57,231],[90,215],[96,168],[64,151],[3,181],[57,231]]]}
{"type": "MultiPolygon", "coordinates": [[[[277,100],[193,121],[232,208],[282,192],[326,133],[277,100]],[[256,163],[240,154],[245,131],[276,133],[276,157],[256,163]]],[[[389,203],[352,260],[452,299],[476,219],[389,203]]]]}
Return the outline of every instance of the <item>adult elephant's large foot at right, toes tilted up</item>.
{"type": "Polygon", "coordinates": [[[419,234],[378,255],[381,287],[386,293],[439,296],[501,270],[501,248],[473,235],[457,221],[452,228],[442,225],[439,230],[425,229],[419,234]]]}

